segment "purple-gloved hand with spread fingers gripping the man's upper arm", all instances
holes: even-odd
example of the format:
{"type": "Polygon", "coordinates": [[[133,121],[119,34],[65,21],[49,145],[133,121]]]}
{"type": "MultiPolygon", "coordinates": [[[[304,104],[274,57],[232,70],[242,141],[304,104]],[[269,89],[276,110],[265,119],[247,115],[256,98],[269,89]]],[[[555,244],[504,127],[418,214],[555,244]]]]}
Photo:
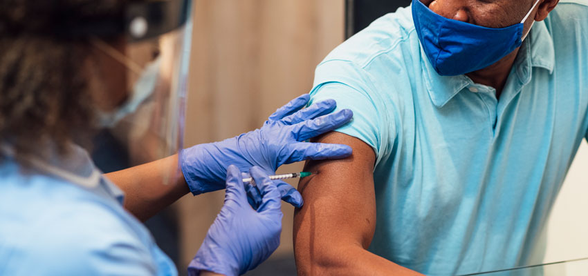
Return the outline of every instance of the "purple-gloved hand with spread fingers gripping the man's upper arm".
{"type": "MultiPolygon", "coordinates": [[[[259,166],[268,175],[273,175],[283,164],[351,155],[351,148],[346,145],[304,142],[339,128],[353,117],[351,110],[329,114],[336,108],[333,100],[300,110],[309,98],[309,95],[302,95],[279,108],[260,129],[183,150],[180,153],[181,168],[190,191],[199,195],[225,188],[226,168],[230,164],[235,164],[242,172],[259,166]]],[[[302,206],[302,196],[295,188],[280,182],[278,190],[284,201],[295,207],[302,206]]]]}

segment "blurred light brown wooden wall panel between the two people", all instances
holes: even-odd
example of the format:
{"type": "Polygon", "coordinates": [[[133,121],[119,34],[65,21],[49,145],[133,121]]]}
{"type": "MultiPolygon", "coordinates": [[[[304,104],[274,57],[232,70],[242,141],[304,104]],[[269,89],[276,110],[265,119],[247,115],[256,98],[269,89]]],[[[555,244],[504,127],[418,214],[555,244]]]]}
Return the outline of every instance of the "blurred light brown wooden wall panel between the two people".
{"type": "MultiPolygon", "coordinates": [[[[309,92],[315,66],[344,36],[343,0],[196,0],[194,8],[185,146],[261,126],[276,108],[309,92]]],[[[284,167],[279,172],[302,164],[284,167]]],[[[224,192],[188,195],[178,202],[181,272],[223,197],[224,192]]],[[[283,210],[282,245],[275,254],[293,250],[293,208],[283,210]]]]}

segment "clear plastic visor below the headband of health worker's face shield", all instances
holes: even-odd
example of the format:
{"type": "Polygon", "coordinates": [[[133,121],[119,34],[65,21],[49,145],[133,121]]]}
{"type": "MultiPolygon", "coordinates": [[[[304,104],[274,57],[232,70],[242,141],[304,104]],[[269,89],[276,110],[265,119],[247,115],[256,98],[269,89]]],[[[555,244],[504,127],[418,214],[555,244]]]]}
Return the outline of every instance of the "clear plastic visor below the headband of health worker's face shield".
{"type": "Polygon", "coordinates": [[[118,108],[104,112],[106,115],[100,119],[109,121],[110,125],[102,125],[109,125],[106,131],[118,143],[117,148],[124,151],[116,155],[125,155],[127,167],[169,157],[183,146],[189,32],[187,23],[159,37],[120,48],[93,40],[96,48],[120,66],[113,66],[111,75],[119,80],[120,92],[125,96],[118,108]]]}

